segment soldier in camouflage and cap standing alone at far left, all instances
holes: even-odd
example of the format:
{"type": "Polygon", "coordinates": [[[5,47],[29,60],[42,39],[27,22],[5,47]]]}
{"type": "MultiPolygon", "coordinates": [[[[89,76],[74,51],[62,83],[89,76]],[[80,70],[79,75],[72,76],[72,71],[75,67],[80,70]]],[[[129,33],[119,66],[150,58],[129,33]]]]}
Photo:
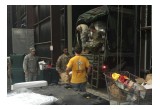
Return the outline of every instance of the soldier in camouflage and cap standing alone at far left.
{"type": "Polygon", "coordinates": [[[24,57],[23,70],[25,81],[36,81],[38,76],[38,57],[35,56],[35,48],[29,49],[30,53],[24,57]]]}

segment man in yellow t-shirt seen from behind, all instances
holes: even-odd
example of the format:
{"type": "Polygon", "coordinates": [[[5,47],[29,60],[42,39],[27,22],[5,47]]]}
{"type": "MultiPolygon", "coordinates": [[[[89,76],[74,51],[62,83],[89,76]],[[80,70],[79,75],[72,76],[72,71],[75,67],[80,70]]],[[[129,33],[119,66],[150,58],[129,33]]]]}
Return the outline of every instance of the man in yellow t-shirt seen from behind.
{"type": "Polygon", "coordinates": [[[78,91],[86,91],[87,76],[90,72],[90,63],[88,59],[81,56],[82,48],[75,48],[75,56],[72,57],[66,68],[66,75],[72,71],[71,85],[72,88],[78,91]]]}

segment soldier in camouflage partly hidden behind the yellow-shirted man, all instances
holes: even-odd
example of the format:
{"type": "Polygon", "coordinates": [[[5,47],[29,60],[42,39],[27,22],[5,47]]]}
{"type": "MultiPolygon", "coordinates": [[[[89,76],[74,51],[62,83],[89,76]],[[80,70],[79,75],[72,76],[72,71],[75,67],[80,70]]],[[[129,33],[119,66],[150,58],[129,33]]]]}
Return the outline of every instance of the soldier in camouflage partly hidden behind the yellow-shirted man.
{"type": "Polygon", "coordinates": [[[68,49],[64,48],[63,54],[58,57],[58,60],[56,62],[56,70],[59,73],[59,76],[61,78],[61,82],[68,83],[68,82],[66,82],[66,73],[65,72],[66,72],[66,65],[67,65],[70,58],[71,58],[71,56],[68,53],[68,49]]]}

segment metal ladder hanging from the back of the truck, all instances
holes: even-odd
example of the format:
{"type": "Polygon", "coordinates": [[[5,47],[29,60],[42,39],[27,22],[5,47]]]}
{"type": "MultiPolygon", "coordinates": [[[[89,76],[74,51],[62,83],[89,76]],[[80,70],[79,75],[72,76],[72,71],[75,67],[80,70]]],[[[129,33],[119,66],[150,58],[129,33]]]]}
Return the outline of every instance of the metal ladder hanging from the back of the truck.
{"type": "Polygon", "coordinates": [[[91,88],[98,88],[99,86],[99,80],[100,80],[100,72],[101,72],[101,66],[104,61],[104,55],[100,54],[94,54],[93,55],[93,61],[92,61],[92,72],[91,72],[91,88]]]}

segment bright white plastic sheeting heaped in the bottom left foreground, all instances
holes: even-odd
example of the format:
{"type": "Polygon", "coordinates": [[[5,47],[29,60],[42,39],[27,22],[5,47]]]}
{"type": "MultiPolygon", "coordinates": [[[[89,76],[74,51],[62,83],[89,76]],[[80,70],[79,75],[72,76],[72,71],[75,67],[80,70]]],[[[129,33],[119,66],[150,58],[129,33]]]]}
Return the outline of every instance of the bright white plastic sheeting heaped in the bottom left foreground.
{"type": "Polygon", "coordinates": [[[48,105],[57,100],[54,96],[41,95],[26,88],[18,89],[7,95],[8,104],[48,105]]]}

